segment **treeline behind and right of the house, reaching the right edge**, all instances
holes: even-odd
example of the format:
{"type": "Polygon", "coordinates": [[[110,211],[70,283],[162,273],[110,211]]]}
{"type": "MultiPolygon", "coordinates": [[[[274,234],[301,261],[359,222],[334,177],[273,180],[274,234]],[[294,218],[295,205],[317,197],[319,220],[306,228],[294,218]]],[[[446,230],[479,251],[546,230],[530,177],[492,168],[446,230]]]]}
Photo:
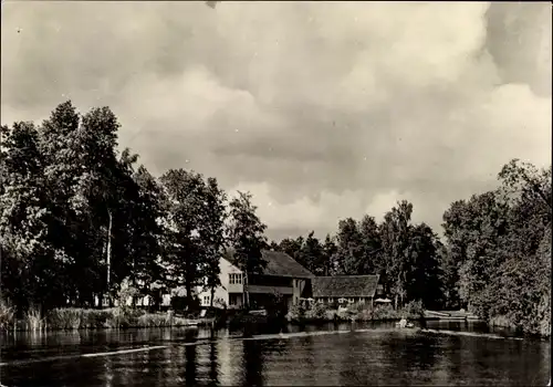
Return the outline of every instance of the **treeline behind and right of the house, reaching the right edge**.
{"type": "Polygon", "coordinates": [[[480,317],[530,333],[551,333],[551,167],[517,159],[498,189],[450,205],[445,238],[413,224],[413,205],[399,202],[377,224],[365,215],[341,220],[320,241],[284,239],[271,247],[317,275],[380,274],[396,304],[467,308],[480,317]]]}

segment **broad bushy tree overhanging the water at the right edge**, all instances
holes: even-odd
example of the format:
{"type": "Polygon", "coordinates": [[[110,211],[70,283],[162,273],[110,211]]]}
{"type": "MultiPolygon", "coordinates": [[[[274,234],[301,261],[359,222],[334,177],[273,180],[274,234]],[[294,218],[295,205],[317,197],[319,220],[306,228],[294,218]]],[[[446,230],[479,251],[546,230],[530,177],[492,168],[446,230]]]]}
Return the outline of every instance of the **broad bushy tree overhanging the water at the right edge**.
{"type": "Polygon", "coordinates": [[[551,167],[514,159],[498,177],[499,189],[444,215],[460,297],[480,317],[550,334],[551,167]]]}

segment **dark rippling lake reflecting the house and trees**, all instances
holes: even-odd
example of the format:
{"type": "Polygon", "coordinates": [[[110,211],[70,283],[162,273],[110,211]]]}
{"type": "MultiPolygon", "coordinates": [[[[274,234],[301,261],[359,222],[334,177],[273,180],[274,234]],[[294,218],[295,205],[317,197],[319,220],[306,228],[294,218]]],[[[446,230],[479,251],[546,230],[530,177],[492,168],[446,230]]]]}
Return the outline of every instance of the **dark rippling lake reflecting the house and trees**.
{"type": "Polygon", "coordinates": [[[354,323],[247,338],[204,328],[18,333],[2,336],[0,380],[14,387],[549,381],[549,342],[486,335],[473,324],[432,322],[428,328],[446,331],[354,323]]]}

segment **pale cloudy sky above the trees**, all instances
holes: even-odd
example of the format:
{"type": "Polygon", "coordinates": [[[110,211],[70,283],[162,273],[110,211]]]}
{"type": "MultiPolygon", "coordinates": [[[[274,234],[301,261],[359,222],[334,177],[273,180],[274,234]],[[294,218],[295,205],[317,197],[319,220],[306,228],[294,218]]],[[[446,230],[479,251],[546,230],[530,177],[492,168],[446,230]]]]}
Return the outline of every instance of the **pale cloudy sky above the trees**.
{"type": "Polygon", "coordinates": [[[551,4],[2,1],[1,122],[109,106],[154,175],[249,190],[271,239],[441,232],[512,158],[551,164],[551,4]]]}

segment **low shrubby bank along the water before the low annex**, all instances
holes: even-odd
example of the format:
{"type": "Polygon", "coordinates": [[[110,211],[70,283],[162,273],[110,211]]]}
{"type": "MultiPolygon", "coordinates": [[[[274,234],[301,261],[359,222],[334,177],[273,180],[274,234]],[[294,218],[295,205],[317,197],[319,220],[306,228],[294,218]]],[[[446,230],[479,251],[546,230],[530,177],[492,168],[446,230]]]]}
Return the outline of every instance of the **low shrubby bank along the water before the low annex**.
{"type": "Polygon", "coordinates": [[[397,310],[394,310],[389,305],[369,308],[364,304],[355,304],[347,307],[347,310],[338,310],[335,305],[312,304],[307,307],[291,307],[286,320],[291,323],[330,321],[375,322],[399,321],[401,317],[418,320],[421,315],[424,315],[424,308],[420,303],[409,303],[397,310]]]}

